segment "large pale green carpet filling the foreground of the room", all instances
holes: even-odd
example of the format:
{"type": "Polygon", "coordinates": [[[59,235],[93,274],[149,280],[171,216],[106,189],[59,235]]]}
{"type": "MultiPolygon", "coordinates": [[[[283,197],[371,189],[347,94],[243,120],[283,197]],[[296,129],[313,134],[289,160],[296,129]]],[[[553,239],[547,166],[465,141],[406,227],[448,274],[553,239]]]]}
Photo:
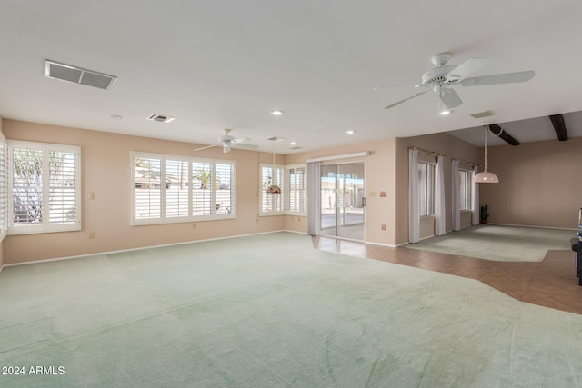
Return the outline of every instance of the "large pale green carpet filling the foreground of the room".
{"type": "Polygon", "coordinates": [[[579,387],[582,315],[265,234],[7,267],[2,387],[579,387]]]}

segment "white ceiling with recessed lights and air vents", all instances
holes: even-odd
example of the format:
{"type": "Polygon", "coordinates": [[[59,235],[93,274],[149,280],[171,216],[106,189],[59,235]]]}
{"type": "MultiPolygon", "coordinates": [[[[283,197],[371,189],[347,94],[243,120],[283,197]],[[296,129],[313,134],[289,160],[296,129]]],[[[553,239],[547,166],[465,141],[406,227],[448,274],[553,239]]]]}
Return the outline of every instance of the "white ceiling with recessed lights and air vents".
{"type": "MultiPolygon", "coordinates": [[[[232,128],[265,151],[271,136],[303,147],[279,142],[282,154],[463,128],[473,129],[459,136],[480,144],[482,124],[511,123],[509,131],[518,120],[582,111],[580,15],[572,0],[3,0],[0,115],[196,144],[232,128]],[[486,57],[476,75],[536,76],[457,85],[464,104],[447,117],[432,92],[383,109],[417,90],[374,87],[419,83],[443,51],[454,65],[486,57]],[[48,79],[45,59],[118,80],[104,91],[48,79]],[[494,115],[484,120],[469,115],[487,110],[494,115]]],[[[582,135],[568,121],[580,128],[579,115],[567,128],[582,135]]]]}

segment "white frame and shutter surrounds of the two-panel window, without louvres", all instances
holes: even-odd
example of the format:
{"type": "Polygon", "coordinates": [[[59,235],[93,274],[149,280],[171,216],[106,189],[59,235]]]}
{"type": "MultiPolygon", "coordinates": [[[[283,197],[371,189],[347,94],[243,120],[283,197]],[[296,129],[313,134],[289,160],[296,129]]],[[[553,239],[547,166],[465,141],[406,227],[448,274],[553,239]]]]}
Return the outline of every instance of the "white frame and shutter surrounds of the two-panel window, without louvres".
{"type": "MultiPolygon", "coordinates": [[[[76,232],[80,231],[82,228],[82,189],[81,189],[81,147],[78,145],[68,145],[68,144],[50,144],[50,143],[39,143],[39,142],[26,142],[21,140],[8,140],[7,141],[7,234],[41,234],[41,233],[56,233],[56,232],[76,232]],[[15,176],[14,176],[14,150],[15,149],[26,149],[26,150],[37,150],[42,152],[42,165],[43,173],[41,177],[42,181],[42,198],[41,198],[41,208],[43,220],[36,224],[15,224],[15,201],[14,201],[14,190],[15,190],[15,176]],[[74,173],[73,173],[73,188],[74,188],[74,219],[71,223],[51,223],[51,171],[50,171],[50,154],[52,152],[64,152],[71,153],[74,155],[74,173]],[[48,214],[46,215],[46,213],[48,214]]],[[[52,186],[54,188],[54,186],[52,186]]]]}

